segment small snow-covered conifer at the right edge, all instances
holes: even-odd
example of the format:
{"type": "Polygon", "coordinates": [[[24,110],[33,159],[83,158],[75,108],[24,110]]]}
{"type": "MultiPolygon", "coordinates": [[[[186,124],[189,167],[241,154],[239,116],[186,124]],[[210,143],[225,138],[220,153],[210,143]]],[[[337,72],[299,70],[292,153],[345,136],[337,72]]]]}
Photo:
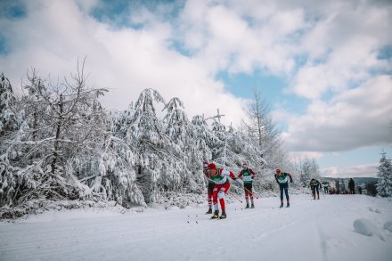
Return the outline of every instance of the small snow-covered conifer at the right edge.
{"type": "Polygon", "coordinates": [[[377,184],[377,192],[381,197],[392,196],[392,160],[387,159],[387,153],[381,153],[380,166],[377,176],[379,182],[377,184]]]}

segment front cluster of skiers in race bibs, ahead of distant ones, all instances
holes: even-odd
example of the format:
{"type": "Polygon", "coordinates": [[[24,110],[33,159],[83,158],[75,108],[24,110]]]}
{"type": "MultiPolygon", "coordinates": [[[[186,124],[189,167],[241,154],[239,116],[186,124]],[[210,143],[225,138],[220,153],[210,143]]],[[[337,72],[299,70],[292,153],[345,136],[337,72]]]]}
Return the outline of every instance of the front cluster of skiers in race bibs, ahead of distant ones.
{"type": "MultiPolygon", "coordinates": [[[[253,196],[253,180],[256,177],[256,173],[251,169],[247,163],[243,163],[242,170],[238,175],[234,175],[232,171],[225,170],[223,168],[218,168],[214,163],[203,162],[203,172],[208,179],[208,211],[206,214],[213,214],[212,219],[220,218],[224,219],[227,217],[225,211],[225,194],[229,191],[230,181],[229,178],[236,180],[241,178],[243,181],[243,186],[245,190],[245,208],[255,208],[254,196],[253,196]],[[250,205],[249,205],[250,200],[250,205]],[[219,216],[219,205],[221,207],[222,213],[219,216]],[[214,208],[214,212],[212,212],[214,208]]],[[[276,169],[276,174],[274,175],[276,182],[279,184],[281,191],[281,207],[283,207],[283,192],[286,196],[287,205],[290,207],[290,197],[289,197],[289,179],[290,183],[293,182],[290,173],[282,172],[280,169],[276,169]]]]}

